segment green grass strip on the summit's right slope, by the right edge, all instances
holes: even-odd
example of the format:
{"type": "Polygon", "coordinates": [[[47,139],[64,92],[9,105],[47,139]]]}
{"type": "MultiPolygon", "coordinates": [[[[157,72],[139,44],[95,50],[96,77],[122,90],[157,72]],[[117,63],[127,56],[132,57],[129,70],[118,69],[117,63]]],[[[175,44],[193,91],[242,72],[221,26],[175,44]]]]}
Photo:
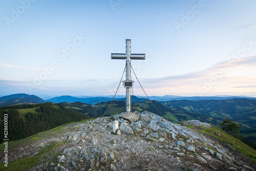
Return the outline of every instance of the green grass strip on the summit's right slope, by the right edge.
{"type": "Polygon", "coordinates": [[[217,126],[211,125],[211,128],[201,127],[202,130],[195,130],[205,134],[208,134],[212,137],[219,139],[220,141],[230,144],[233,148],[236,148],[238,151],[246,155],[250,160],[256,163],[256,151],[255,149],[249,147],[245,143],[241,142],[239,139],[232,137],[231,135],[225,133],[224,131],[218,129],[217,126]],[[219,136],[220,134],[221,136],[219,136]]]}

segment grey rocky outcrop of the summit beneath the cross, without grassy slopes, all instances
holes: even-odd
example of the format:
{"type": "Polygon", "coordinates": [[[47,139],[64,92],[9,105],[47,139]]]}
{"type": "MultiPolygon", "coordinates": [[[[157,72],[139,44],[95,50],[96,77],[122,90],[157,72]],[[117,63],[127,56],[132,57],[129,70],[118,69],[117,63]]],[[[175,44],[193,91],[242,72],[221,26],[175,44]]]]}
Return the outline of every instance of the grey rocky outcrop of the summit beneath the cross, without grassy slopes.
{"type": "MultiPolygon", "coordinates": [[[[196,124],[207,126],[198,121],[196,124]]],[[[216,140],[150,112],[126,112],[73,124],[67,126],[67,131],[58,140],[67,142],[59,147],[60,155],[56,160],[32,170],[196,171],[256,168],[255,165],[242,163],[233,151],[216,140]]]]}

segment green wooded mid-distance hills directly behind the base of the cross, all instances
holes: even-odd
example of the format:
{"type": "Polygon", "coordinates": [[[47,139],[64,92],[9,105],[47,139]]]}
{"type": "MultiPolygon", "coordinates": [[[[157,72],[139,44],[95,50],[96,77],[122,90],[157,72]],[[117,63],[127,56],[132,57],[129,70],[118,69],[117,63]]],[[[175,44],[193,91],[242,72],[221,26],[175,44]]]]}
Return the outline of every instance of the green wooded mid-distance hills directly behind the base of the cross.
{"type": "MultiPolygon", "coordinates": [[[[143,102],[136,102],[135,104],[133,103],[132,111],[140,111],[140,112],[149,111],[175,123],[182,120],[198,119],[202,122],[208,122],[208,123],[218,125],[218,123],[223,121],[220,118],[215,118],[215,117],[206,116],[200,113],[190,112],[178,107],[174,109],[169,109],[163,104],[155,100],[153,100],[152,102],[154,103],[157,109],[150,101],[143,101],[143,102]]],[[[59,104],[65,106],[70,110],[73,110],[82,114],[87,114],[92,118],[97,118],[97,117],[101,117],[106,111],[106,109],[108,109],[110,101],[100,102],[95,105],[90,105],[90,104],[81,103],[81,102],[74,102],[74,103],[63,102],[59,104]]],[[[125,111],[125,102],[115,100],[113,101],[110,109],[105,113],[104,116],[117,115],[124,111],[125,111]]]]}

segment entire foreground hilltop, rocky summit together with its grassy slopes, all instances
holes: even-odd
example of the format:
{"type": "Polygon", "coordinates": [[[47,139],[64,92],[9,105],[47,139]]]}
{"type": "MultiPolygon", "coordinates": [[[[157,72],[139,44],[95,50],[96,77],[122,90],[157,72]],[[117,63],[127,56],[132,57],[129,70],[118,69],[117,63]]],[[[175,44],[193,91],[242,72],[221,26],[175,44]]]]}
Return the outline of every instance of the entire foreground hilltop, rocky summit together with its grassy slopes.
{"type": "Polygon", "coordinates": [[[74,122],[9,142],[8,170],[256,169],[254,149],[207,123],[187,127],[148,112],[74,122]]]}

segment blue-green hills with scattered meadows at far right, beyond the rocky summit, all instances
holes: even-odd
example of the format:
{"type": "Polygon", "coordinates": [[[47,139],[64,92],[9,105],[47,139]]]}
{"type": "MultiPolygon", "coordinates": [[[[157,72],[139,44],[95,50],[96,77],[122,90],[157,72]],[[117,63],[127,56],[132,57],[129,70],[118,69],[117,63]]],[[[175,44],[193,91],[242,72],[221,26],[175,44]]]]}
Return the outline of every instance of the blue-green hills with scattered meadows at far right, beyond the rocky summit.
{"type": "Polygon", "coordinates": [[[217,121],[229,118],[230,120],[236,121],[241,126],[240,132],[256,132],[256,100],[253,99],[171,100],[161,103],[169,109],[182,108],[189,112],[219,118],[217,121]]]}

